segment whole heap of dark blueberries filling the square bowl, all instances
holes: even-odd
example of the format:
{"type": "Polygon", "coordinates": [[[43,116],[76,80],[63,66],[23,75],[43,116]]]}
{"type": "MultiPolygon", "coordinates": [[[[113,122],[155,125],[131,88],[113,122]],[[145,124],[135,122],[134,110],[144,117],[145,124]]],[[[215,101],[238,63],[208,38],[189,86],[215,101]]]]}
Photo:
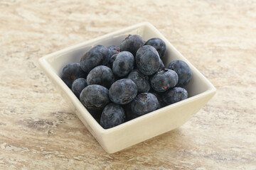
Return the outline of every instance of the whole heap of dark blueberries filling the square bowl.
{"type": "Polygon", "coordinates": [[[181,60],[165,67],[165,55],[160,38],[128,35],[120,46],[92,47],[63,68],[61,79],[102,128],[112,128],[188,98],[191,69],[181,60]]]}

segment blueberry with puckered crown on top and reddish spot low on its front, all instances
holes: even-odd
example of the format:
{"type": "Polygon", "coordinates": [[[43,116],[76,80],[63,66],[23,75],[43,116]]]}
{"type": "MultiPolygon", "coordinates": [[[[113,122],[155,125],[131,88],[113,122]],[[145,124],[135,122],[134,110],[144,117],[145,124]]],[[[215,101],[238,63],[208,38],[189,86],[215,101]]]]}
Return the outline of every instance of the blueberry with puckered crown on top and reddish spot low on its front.
{"type": "Polygon", "coordinates": [[[151,78],[151,87],[158,92],[164,92],[176,86],[178,75],[171,69],[159,69],[151,78]]]}

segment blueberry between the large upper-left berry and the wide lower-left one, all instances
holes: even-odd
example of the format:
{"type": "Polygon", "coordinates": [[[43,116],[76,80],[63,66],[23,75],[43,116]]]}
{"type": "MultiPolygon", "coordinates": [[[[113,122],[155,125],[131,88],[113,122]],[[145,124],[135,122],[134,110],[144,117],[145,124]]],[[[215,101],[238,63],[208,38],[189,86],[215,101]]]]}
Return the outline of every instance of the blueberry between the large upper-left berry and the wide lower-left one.
{"type": "Polygon", "coordinates": [[[110,88],[111,84],[114,83],[114,74],[112,70],[107,66],[97,66],[93,68],[87,75],[87,84],[99,84],[101,86],[110,88]]]}

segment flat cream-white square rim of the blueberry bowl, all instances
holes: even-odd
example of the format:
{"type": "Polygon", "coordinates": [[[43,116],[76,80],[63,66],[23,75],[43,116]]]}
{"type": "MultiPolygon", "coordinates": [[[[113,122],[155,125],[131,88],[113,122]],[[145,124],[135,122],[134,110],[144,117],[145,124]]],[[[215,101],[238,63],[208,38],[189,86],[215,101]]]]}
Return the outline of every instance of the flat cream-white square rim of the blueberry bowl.
{"type": "Polygon", "coordinates": [[[206,77],[204,77],[203,74],[201,74],[201,72],[199,72],[198,69],[196,69],[196,67],[193,66],[193,64],[191,64],[191,62],[189,62],[185,57],[183,57],[183,55],[181,55],[181,52],[176,50],[176,47],[174,47],[174,45],[171,45],[171,42],[169,42],[169,40],[164,38],[164,35],[162,35],[159,32],[159,30],[157,30],[149,22],[138,23],[138,24],[133,25],[133,26],[129,26],[129,27],[126,27],[126,28],[122,28],[120,30],[116,30],[116,31],[114,31],[112,33],[107,33],[105,35],[101,35],[101,36],[99,36],[97,38],[92,38],[92,39],[87,40],[85,42],[78,43],[77,45],[72,45],[70,47],[65,47],[62,50],[58,50],[57,52],[53,52],[53,53],[50,53],[49,55],[41,57],[38,60],[38,62],[40,64],[41,68],[43,69],[43,71],[49,77],[54,79],[55,83],[57,83],[58,86],[63,91],[65,91],[65,93],[68,95],[68,98],[70,98],[70,100],[72,101],[73,105],[75,106],[75,108],[78,108],[80,113],[86,113],[86,114],[82,114],[82,115],[85,116],[87,124],[90,126],[90,128],[92,128],[92,131],[96,130],[97,133],[99,133],[100,135],[110,134],[112,132],[115,132],[115,131],[119,130],[120,128],[126,128],[127,126],[129,126],[129,125],[131,125],[133,123],[139,123],[140,121],[142,121],[142,120],[144,120],[144,119],[146,119],[148,117],[159,115],[159,114],[161,114],[162,111],[169,110],[170,108],[174,108],[176,106],[185,105],[186,103],[192,102],[196,98],[203,98],[204,96],[208,96],[209,94],[215,94],[215,92],[216,92],[216,89],[213,86],[213,84],[211,84],[210,81],[208,79],[206,79],[206,77]],[[75,94],[73,94],[73,92],[68,88],[68,86],[65,85],[64,81],[62,81],[62,79],[60,79],[60,77],[57,74],[55,74],[55,71],[54,71],[53,67],[50,65],[50,63],[48,61],[51,59],[51,57],[54,57],[56,55],[64,55],[65,53],[68,53],[68,52],[70,52],[72,50],[78,49],[79,47],[92,44],[93,42],[97,42],[98,40],[109,38],[112,35],[117,35],[117,34],[126,32],[128,30],[133,30],[133,29],[136,29],[136,28],[144,27],[144,26],[147,26],[147,27],[151,28],[152,30],[154,30],[154,32],[158,34],[159,38],[161,38],[162,40],[164,40],[164,42],[166,42],[166,46],[171,47],[171,50],[174,50],[176,53],[178,53],[178,55],[183,58],[183,60],[189,65],[189,67],[193,68],[193,71],[196,72],[196,74],[198,74],[198,76],[201,79],[203,79],[203,81],[206,83],[207,90],[203,91],[201,94],[196,94],[195,96],[191,96],[189,98],[186,98],[186,100],[179,101],[179,102],[171,104],[169,106],[165,106],[164,108],[159,108],[156,111],[153,111],[151,113],[147,113],[145,115],[139,116],[138,118],[134,118],[132,120],[124,122],[121,125],[117,125],[117,126],[115,126],[113,128],[109,128],[109,129],[104,129],[104,128],[102,128],[102,126],[99,123],[97,123],[97,120],[95,120],[95,118],[93,118],[92,115],[90,115],[90,113],[87,111],[85,106],[82,105],[82,103],[78,100],[78,98],[75,96],[75,94]]]}

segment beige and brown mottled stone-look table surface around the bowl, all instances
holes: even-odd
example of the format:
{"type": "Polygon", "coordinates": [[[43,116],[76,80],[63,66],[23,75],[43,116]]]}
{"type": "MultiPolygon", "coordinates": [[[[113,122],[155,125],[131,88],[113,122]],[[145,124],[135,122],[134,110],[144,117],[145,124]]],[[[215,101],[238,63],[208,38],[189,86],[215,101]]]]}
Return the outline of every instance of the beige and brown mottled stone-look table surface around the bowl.
{"type": "Polygon", "coordinates": [[[256,169],[256,1],[0,1],[0,169],[256,169]],[[216,87],[185,125],[107,154],[38,59],[149,21],[216,87]]]}

